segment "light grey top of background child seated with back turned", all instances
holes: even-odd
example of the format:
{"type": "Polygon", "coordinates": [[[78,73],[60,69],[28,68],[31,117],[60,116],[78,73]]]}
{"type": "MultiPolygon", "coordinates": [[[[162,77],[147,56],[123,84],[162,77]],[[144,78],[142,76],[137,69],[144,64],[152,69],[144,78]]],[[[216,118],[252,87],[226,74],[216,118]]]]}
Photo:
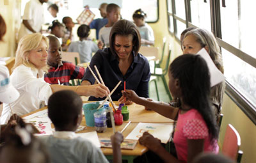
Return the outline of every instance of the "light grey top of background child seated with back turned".
{"type": "Polygon", "coordinates": [[[90,62],[92,59],[92,52],[99,50],[98,45],[91,40],[83,40],[72,42],[68,47],[68,52],[78,52],[81,63],[90,62]]]}

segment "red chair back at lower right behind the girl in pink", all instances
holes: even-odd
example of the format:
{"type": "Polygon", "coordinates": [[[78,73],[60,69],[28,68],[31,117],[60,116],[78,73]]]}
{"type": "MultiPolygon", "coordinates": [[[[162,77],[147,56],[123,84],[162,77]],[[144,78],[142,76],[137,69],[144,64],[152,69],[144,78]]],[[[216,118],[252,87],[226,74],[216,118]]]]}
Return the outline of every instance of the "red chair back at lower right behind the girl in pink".
{"type": "Polygon", "coordinates": [[[237,160],[237,162],[241,162],[243,151],[239,150],[240,145],[241,139],[239,133],[236,128],[228,124],[222,147],[223,155],[230,157],[232,160],[237,160]]]}

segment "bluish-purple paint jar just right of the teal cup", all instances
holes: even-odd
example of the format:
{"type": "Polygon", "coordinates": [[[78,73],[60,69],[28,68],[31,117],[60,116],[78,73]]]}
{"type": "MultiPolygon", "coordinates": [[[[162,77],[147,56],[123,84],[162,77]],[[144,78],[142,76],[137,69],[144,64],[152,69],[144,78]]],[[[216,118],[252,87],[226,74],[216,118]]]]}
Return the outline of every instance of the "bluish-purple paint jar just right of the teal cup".
{"type": "Polygon", "coordinates": [[[105,132],[107,130],[106,111],[97,111],[94,114],[95,130],[97,132],[105,132]]]}

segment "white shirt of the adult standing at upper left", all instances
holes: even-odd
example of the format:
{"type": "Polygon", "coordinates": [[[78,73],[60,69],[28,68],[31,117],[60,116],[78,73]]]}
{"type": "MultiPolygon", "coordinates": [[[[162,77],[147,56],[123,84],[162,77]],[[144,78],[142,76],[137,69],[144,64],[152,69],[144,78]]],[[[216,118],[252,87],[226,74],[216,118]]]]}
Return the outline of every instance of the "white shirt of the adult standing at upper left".
{"type": "MultiPolygon", "coordinates": [[[[24,9],[24,15],[22,20],[28,20],[30,26],[36,31],[40,32],[42,24],[44,24],[44,6],[40,3],[39,0],[30,0],[26,3],[24,9]]],[[[31,34],[27,27],[24,26],[23,23],[20,25],[19,36],[18,39],[22,38],[22,36],[31,34]]]]}

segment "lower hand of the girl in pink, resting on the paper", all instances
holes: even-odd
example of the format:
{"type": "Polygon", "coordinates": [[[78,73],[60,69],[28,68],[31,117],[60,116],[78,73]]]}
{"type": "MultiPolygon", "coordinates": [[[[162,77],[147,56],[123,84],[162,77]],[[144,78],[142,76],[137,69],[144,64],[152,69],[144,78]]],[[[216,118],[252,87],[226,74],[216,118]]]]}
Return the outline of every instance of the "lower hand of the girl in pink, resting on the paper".
{"type": "Polygon", "coordinates": [[[148,132],[144,132],[143,136],[139,139],[140,144],[146,146],[149,150],[152,150],[156,153],[159,148],[161,148],[161,141],[148,132]]]}

